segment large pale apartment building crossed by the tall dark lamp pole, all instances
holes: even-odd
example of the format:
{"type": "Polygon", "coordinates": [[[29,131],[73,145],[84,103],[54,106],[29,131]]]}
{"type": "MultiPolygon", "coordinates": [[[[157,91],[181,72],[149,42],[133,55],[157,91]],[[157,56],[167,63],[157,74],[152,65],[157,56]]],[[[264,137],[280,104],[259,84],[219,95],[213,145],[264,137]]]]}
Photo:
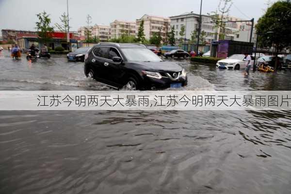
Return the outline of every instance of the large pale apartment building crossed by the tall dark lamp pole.
{"type": "MultiPolygon", "coordinates": [[[[175,38],[176,40],[185,39],[186,43],[191,40],[191,34],[199,30],[199,15],[194,14],[193,12],[187,12],[178,16],[171,16],[171,27],[175,28],[175,38]],[[179,32],[181,31],[182,26],[185,27],[185,36],[181,37],[179,32]]],[[[210,22],[212,20],[211,16],[202,16],[201,31],[206,32],[205,41],[207,44],[210,44],[213,39],[213,34],[216,32],[216,29],[213,28],[213,24],[210,22]]]]}

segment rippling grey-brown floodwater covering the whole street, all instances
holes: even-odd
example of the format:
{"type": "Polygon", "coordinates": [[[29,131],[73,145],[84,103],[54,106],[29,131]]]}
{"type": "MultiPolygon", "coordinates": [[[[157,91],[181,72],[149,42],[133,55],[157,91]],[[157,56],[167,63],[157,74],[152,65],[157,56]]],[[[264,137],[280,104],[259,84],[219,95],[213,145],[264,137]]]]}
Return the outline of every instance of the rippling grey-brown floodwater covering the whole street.
{"type": "MultiPolygon", "coordinates": [[[[290,71],[174,61],[185,90],[291,90],[290,71]]],[[[64,56],[4,52],[0,90],[112,89],[64,56]]],[[[3,111],[0,172],[0,194],[290,194],[291,112],[3,111]]]]}

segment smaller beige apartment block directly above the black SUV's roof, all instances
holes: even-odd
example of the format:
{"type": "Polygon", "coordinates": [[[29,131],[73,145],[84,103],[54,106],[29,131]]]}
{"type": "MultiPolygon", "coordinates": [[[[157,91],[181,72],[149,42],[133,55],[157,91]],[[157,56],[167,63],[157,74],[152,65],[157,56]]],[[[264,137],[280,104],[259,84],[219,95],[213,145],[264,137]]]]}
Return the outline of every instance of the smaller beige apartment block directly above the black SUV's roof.
{"type": "Polygon", "coordinates": [[[122,34],[136,35],[136,23],[131,21],[114,20],[110,23],[111,37],[119,38],[122,34]]]}

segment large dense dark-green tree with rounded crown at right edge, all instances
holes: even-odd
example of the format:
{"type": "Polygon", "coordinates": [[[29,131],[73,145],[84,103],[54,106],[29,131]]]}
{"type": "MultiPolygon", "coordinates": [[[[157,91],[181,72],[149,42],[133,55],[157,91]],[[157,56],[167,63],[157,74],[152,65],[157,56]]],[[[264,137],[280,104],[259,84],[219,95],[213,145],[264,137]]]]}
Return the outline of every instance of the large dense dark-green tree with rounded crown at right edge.
{"type": "Polygon", "coordinates": [[[278,52],[291,47],[291,1],[275,2],[259,18],[256,25],[259,44],[262,47],[274,47],[276,51],[275,69],[278,65],[278,52]]]}

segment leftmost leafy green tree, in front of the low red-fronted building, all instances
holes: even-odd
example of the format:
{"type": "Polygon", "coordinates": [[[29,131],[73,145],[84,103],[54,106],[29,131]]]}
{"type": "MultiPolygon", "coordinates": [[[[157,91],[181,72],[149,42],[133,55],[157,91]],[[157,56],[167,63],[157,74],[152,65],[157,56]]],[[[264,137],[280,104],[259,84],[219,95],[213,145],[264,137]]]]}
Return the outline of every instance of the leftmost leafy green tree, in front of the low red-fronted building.
{"type": "Polygon", "coordinates": [[[38,21],[35,22],[39,42],[48,43],[51,40],[53,27],[50,26],[49,14],[45,11],[36,15],[38,21]]]}

